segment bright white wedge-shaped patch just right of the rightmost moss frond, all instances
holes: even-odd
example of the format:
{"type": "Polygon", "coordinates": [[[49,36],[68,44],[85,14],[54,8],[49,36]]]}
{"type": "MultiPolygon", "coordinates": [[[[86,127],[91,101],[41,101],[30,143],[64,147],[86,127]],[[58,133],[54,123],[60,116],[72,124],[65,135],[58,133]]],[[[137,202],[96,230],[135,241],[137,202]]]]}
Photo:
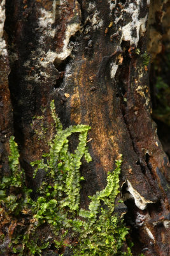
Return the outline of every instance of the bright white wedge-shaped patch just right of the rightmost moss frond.
{"type": "Polygon", "coordinates": [[[146,208],[147,204],[152,204],[153,203],[152,201],[147,200],[143,196],[141,196],[139,194],[139,192],[136,191],[136,189],[134,189],[132,187],[132,184],[129,180],[126,180],[126,182],[127,182],[127,186],[128,186],[127,190],[133,196],[134,202],[135,202],[136,206],[138,206],[139,209],[144,210],[146,208]]]}

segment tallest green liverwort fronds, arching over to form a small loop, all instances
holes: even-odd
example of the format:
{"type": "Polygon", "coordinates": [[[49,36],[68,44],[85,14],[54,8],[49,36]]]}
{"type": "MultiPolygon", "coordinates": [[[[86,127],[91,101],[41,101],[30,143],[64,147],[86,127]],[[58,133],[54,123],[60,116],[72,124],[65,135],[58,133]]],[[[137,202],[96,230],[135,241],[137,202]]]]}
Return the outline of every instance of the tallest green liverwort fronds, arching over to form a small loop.
{"type": "MultiPolygon", "coordinates": [[[[86,146],[87,132],[90,127],[88,125],[70,125],[66,129],[62,129],[60,120],[55,113],[53,101],[50,106],[52,118],[55,121],[56,134],[50,142],[50,152],[46,154],[46,163],[44,159],[40,159],[31,164],[36,166],[34,176],[38,170],[46,170],[51,182],[55,184],[52,189],[46,188],[46,184],[42,185],[41,193],[45,196],[46,188],[46,195],[49,195],[48,200],[51,200],[52,195],[55,195],[57,202],[60,202],[60,204],[57,203],[55,206],[58,211],[63,212],[64,208],[68,207],[74,212],[78,210],[80,204],[80,181],[83,179],[80,175],[81,158],[85,156],[88,163],[92,161],[86,146]],[[69,152],[68,137],[75,132],[79,134],[79,143],[73,154],[69,152]]],[[[38,212],[41,213],[41,218],[48,219],[49,223],[52,220],[49,219],[48,212],[44,211],[44,207],[48,205],[48,202],[39,202],[38,212]]],[[[39,216],[39,214],[36,216],[39,216]]],[[[41,218],[38,217],[39,220],[41,218]]]]}

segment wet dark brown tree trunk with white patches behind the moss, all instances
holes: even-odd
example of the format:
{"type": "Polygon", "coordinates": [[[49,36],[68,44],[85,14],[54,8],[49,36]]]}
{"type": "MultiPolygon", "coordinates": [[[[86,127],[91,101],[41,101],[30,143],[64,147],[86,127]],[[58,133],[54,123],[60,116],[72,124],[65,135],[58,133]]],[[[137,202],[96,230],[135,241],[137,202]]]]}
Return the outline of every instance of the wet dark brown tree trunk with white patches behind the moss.
{"type": "MultiPolygon", "coordinates": [[[[30,163],[48,152],[54,99],[64,128],[91,127],[88,147],[93,161],[83,161],[81,167],[81,207],[88,207],[89,195],[105,188],[107,173],[122,154],[120,186],[126,206],[117,211],[127,212],[132,253],[169,255],[170,166],[152,120],[150,55],[153,61],[162,52],[160,42],[169,44],[170,2],[0,2],[3,175],[10,172],[9,138],[14,134],[26,185],[36,191],[42,177],[40,173],[32,178],[30,163]],[[166,31],[164,38],[160,27],[166,31]]],[[[71,140],[74,148],[76,138],[71,140]]],[[[3,218],[2,255],[13,255],[8,244],[15,227],[3,218]]],[[[45,227],[39,232],[50,236],[45,227]]],[[[57,255],[54,252],[51,248],[41,255],[57,255]]]]}

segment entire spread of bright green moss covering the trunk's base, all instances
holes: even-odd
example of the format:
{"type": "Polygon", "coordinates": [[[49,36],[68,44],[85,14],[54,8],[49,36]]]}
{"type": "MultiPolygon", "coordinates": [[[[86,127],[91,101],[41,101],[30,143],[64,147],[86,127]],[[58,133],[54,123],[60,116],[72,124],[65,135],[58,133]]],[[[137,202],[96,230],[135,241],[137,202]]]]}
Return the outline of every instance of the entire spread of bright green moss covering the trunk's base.
{"type": "Polygon", "coordinates": [[[24,185],[24,172],[20,170],[17,143],[14,137],[10,138],[11,176],[3,178],[1,203],[6,205],[8,214],[17,216],[30,209],[34,223],[24,233],[11,239],[13,253],[41,255],[42,250],[48,250],[48,243],[42,241],[36,232],[46,224],[52,229],[53,242],[59,253],[67,246],[74,256],[132,255],[130,248],[122,252],[128,228],[114,213],[115,198],[119,193],[122,155],[115,162],[114,172],[108,172],[106,188],[90,197],[88,210],[80,209],[81,180],[84,180],[80,173],[81,159],[84,157],[87,163],[92,161],[87,148],[87,132],[90,127],[76,125],[63,129],[55,113],[53,101],[51,111],[55,123],[55,136],[49,143],[50,150],[40,160],[31,163],[35,166],[34,177],[41,170],[46,173],[37,191],[39,197],[36,202],[31,200],[31,191],[24,185]],[[79,134],[79,143],[74,153],[71,153],[68,138],[73,133],[79,134]],[[7,195],[13,196],[10,191],[11,184],[22,191],[22,199],[18,200],[16,194],[9,204],[7,195]]]}

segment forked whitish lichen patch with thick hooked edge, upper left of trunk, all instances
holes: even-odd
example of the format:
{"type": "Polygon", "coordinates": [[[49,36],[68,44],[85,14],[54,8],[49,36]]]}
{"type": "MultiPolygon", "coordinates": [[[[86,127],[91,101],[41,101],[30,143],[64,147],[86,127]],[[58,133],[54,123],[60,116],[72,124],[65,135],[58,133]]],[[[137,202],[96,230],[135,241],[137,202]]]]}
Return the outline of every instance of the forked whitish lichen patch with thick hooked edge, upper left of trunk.
{"type": "MultiPolygon", "coordinates": [[[[57,51],[52,51],[52,50],[48,50],[48,52],[46,52],[43,49],[43,44],[46,41],[46,38],[50,37],[53,38],[55,36],[56,33],[56,29],[53,28],[53,24],[55,22],[55,16],[56,16],[56,9],[61,6],[62,4],[66,4],[66,1],[55,1],[53,0],[53,4],[52,4],[52,8],[50,10],[46,10],[45,8],[40,8],[39,9],[39,13],[40,13],[40,17],[39,17],[39,26],[38,29],[41,31],[43,31],[42,35],[39,38],[39,45],[41,45],[40,47],[38,47],[36,49],[36,52],[32,52],[31,54],[31,58],[30,60],[34,61],[37,60],[38,64],[36,64],[36,68],[40,68],[39,70],[39,76],[34,76],[32,74],[30,74],[29,76],[27,76],[27,80],[32,80],[34,79],[34,81],[39,82],[41,81],[41,78],[47,78],[48,74],[46,74],[46,72],[44,72],[43,70],[41,70],[41,67],[46,68],[49,65],[54,65],[54,61],[57,60],[58,62],[65,60],[70,54],[71,51],[73,49],[73,46],[69,45],[69,40],[71,38],[71,36],[75,35],[75,33],[81,29],[81,21],[80,19],[77,19],[77,17],[79,17],[81,15],[80,12],[77,12],[77,5],[78,2],[76,1],[76,7],[75,10],[73,10],[74,13],[74,17],[73,20],[76,20],[75,22],[70,22],[69,24],[66,25],[66,29],[63,33],[63,37],[62,37],[62,49],[60,49],[59,52],[57,51]],[[76,19],[74,19],[76,18],[76,19]],[[78,21],[77,21],[78,20],[78,21]],[[36,58],[34,58],[34,56],[36,56],[36,58]]],[[[59,8],[58,8],[59,10],[59,8]]],[[[31,61],[28,60],[24,63],[24,66],[29,68],[31,64],[31,61]]]]}

